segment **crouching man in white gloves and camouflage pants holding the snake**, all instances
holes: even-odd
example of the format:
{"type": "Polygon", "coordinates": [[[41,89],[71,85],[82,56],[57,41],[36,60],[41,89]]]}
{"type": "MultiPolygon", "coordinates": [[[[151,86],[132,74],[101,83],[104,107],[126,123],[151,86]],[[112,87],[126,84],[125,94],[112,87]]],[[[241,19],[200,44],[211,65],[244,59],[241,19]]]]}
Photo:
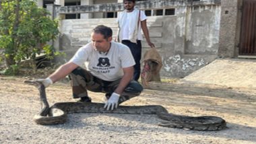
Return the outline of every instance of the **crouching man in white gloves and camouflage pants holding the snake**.
{"type": "Polygon", "coordinates": [[[53,74],[42,81],[45,87],[62,79],[71,77],[73,98],[79,102],[91,102],[87,89],[92,92],[103,92],[106,95],[104,108],[117,108],[119,104],[139,96],[143,87],[133,81],[133,65],[135,61],[131,50],[124,44],[111,42],[112,30],[106,26],[96,26],[92,30],[92,42],[77,50],[73,58],[61,65],[53,74]],[[85,62],[88,67],[82,69],[85,62]]]}

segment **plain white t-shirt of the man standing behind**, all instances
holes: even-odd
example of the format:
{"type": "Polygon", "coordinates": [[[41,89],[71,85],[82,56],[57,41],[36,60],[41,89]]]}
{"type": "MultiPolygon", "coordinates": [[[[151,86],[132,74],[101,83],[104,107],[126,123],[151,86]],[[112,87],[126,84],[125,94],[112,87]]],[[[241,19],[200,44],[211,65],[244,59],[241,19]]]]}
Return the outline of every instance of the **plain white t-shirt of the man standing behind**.
{"type": "MultiPolygon", "coordinates": [[[[118,15],[118,20],[121,20],[121,13],[118,15]]],[[[129,26],[130,24],[130,20],[131,17],[137,17],[139,18],[140,21],[146,20],[147,16],[145,14],[144,11],[140,10],[140,17],[138,17],[137,13],[135,13],[135,11],[131,11],[131,12],[127,12],[127,17],[125,17],[125,23],[123,25],[123,27],[121,28],[122,31],[122,36],[121,39],[122,40],[129,40],[129,28],[131,28],[131,26],[129,26]]],[[[139,28],[138,28],[138,32],[137,32],[137,40],[142,40],[142,34],[141,34],[141,24],[139,24],[139,28]]]]}

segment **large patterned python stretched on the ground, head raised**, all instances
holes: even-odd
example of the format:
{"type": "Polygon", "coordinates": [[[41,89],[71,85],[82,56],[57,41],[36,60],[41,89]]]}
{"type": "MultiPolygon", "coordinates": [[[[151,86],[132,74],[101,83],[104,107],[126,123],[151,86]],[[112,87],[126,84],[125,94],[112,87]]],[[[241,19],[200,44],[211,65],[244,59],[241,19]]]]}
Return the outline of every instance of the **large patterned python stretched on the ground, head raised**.
{"type": "Polygon", "coordinates": [[[115,110],[105,110],[104,104],[87,102],[60,102],[49,107],[45,87],[40,81],[24,81],[34,85],[40,92],[42,110],[34,116],[37,124],[62,124],[67,120],[67,114],[77,112],[115,113],[115,114],[156,114],[164,120],[162,127],[189,129],[195,131],[217,131],[226,128],[226,121],[218,116],[183,116],[168,113],[166,108],[154,106],[119,106],[115,110]]]}

